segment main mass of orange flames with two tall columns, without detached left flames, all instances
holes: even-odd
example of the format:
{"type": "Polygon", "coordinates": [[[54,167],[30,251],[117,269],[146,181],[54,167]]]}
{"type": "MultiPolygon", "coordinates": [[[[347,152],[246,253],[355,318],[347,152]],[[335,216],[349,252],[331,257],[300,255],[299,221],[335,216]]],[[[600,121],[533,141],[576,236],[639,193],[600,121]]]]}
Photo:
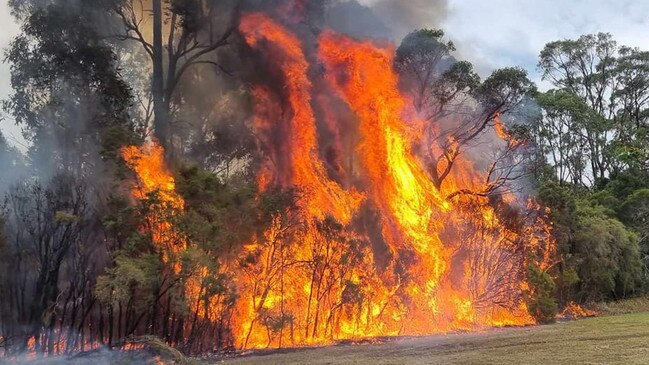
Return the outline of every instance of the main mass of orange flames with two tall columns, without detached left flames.
{"type": "MultiPolygon", "coordinates": [[[[359,142],[343,151],[342,141],[334,143],[339,155],[352,156],[353,168],[336,168],[333,181],[318,153],[309,77],[313,65],[301,41],[259,13],[244,16],[240,31],[249,46],[270,56],[286,94],[282,104],[270,89],[261,85],[253,89],[256,129],[266,135],[283,132],[288,139],[286,146],[266,146],[274,164],[262,166],[260,185],[272,181],[302,191],[298,219],[304,226],[295,237],[279,237],[278,220],[263,240],[249,246],[260,255],[260,264],[244,270],[249,277],[237,283],[243,289],[233,328],[239,347],[324,344],[533,322],[521,298],[510,297],[520,295],[524,286],[524,259],[511,246],[519,237],[502,227],[487,198],[446,198],[467,184],[479,191],[479,173],[460,158],[453,179],[440,189],[412,152],[415,126],[421,122],[407,120],[408,103],[392,70],[393,48],[332,32],[318,39],[329,93],[358,119],[359,142]],[[355,182],[353,187],[342,187],[350,181],[355,182]],[[365,243],[355,248],[361,252],[356,265],[336,272],[333,267],[340,265],[336,251],[350,250],[350,239],[367,242],[367,233],[347,227],[353,216],[362,214],[361,207],[378,214],[383,252],[380,246],[365,243]],[[322,237],[318,224],[325,217],[345,226],[351,237],[322,237]],[[454,227],[452,234],[449,226],[454,227]],[[445,242],[448,236],[454,236],[452,242],[445,242]],[[282,250],[288,251],[286,257],[269,256],[282,250]],[[323,258],[330,261],[320,267],[317,260],[323,258]],[[286,259],[307,264],[281,270],[286,259]],[[331,284],[323,291],[327,280],[331,284]],[[349,298],[352,294],[358,303],[349,298]],[[321,313],[327,318],[324,322],[321,313]],[[290,323],[285,326],[286,318],[290,323]],[[261,322],[271,319],[277,327],[269,335],[269,326],[261,322]]],[[[315,102],[325,108],[323,123],[340,136],[339,118],[332,117],[329,103],[315,102]]]]}

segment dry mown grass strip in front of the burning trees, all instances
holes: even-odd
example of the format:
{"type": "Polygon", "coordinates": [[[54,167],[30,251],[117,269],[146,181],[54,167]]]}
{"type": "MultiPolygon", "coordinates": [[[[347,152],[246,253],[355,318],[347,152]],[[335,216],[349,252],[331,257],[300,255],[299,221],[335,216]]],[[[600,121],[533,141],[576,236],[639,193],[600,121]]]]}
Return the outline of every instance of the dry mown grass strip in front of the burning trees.
{"type": "Polygon", "coordinates": [[[649,313],[548,326],[286,350],[225,364],[649,364],[649,313]]]}

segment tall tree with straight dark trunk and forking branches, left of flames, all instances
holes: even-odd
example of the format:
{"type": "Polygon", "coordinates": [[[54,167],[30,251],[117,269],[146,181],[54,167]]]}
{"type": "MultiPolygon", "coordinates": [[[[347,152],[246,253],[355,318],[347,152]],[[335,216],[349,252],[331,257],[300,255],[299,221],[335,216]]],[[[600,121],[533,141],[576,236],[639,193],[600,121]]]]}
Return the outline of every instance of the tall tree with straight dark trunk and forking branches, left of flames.
{"type": "Polygon", "coordinates": [[[117,38],[135,41],[151,59],[154,134],[164,147],[171,147],[172,106],[179,84],[197,65],[224,71],[215,53],[228,45],[236,25],[233,19],[227,19],[228,14],[233,14],[231,9],[214,1],[153,0],[150,19],[146,7],[142,0],[115,2],[113,10],[124,30],[117,38]],[[226,19],[218,14],[224,10],[226,19]]]}

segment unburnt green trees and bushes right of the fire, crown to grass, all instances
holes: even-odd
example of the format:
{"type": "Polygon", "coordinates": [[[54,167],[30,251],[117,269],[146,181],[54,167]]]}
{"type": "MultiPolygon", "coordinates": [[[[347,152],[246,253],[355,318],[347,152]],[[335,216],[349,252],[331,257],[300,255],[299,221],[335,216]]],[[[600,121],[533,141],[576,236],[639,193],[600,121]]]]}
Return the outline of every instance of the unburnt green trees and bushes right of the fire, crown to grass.
{"type": "Polygon", "coordinates": [[[553,86],[536,96],[541,115],[529,127],[536,190],[552,209],[559,249],[552,293],[559,304],[641,295],[649,284],[649,52],[584,35],[548,43],[538,67],[553,86]]]}

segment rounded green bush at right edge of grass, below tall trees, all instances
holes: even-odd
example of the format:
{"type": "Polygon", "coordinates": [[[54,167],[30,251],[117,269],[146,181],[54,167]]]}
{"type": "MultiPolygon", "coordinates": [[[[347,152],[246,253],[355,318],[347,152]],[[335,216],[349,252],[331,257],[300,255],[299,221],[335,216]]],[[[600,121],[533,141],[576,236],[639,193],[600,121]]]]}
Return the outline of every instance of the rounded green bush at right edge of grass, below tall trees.
{"type": "Polygon", "coordinates": [[[638,236],[618,220],[619,201],[613,194],[600,191],[580,198],[570,187],[546,182],[538,195],[551,208],[562,303],[621,298],[643,290],[638,236]]]}

